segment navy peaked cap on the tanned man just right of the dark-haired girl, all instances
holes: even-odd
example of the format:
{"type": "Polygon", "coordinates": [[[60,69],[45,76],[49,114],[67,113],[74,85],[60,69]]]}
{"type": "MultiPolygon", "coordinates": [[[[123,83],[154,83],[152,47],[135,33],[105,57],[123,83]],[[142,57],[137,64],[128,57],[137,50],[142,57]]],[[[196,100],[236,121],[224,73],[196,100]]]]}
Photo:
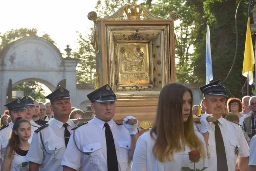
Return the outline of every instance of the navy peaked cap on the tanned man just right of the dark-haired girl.
{"type": "Polygon", "coordinates": [[[45,98],[49,99],[51,102],[59,99],[70,99],[69,90],[60,86],[45,98]]]}

